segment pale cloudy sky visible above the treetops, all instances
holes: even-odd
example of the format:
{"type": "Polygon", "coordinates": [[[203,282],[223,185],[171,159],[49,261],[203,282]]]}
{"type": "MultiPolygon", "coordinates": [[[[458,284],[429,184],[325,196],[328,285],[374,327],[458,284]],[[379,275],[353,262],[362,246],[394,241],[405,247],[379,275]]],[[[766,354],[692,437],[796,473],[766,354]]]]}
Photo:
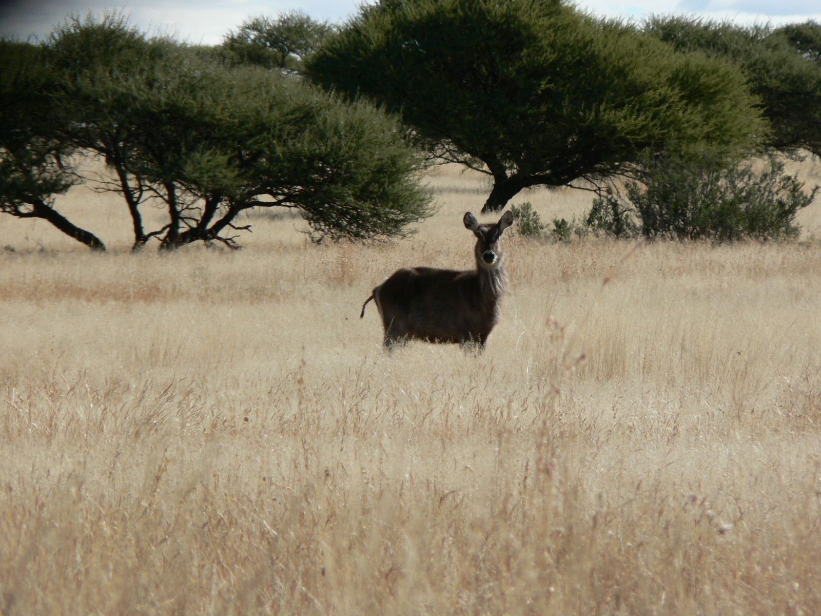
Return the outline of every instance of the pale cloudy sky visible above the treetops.
{"type": "MultiPolygon", "coordinates": [[[[314,19],[344,21],[359,0],[0,0],[0,35],[43,39],[68,14],[122,10],[142,30],[177,34],[190,43],[217,44],[249,16],[274,16],[301,9],[314,19]]],[[[578,6],[599,16],[641,19],[650,14],[686,13],[740,23],[773,25],[821,21],[821,0],[582,0],[578,6]]]]}

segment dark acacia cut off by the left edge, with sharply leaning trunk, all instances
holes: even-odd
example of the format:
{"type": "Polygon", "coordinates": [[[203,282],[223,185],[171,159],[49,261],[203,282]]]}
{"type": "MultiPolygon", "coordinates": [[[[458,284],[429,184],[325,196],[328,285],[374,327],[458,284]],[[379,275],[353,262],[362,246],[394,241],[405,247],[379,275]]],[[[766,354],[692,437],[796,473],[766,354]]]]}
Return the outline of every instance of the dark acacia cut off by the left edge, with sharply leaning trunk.
{"type": "Polygon", "coordinates": [[[43,218],[92,250],[105,245],[54,208],[80,182],[71,161],[76,148],[58,134],[53,114],[58,86],[42,49],[0,40],[0,212],[43,218]]]}

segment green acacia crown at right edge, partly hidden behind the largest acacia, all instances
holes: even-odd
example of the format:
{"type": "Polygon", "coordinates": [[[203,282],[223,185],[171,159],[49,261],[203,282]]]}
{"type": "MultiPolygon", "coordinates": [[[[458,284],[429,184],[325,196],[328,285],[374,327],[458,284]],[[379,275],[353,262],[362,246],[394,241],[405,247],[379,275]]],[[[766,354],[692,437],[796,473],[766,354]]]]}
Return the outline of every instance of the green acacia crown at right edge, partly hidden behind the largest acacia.
{"type": "Polygon", "coordinates": [[[821,51],[819,26],[742,26],[691,17],[653,17],[648,34],[681,51],[726,58],[744,71],[772,127],[764,145],[821,155],[821,51]]]}

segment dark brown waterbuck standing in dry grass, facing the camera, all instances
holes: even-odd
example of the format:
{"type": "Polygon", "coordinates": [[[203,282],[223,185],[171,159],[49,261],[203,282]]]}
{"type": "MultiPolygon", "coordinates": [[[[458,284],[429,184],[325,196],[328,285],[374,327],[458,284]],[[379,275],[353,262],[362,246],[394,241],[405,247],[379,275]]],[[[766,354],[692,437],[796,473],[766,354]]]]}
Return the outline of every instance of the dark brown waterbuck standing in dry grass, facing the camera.
{"type": "Polygon", "coordinates": [[[513,223],[513,214],[505,212],[496,224],[479,224],[468,212],[464,222],[476,236],[476,269],[399,269],[374,288],[362,305],[360,319],[365,316],[368,302],[376,301],[388,350],[412,338],[474,343],[484,348],[498,321],[499,301],[505,289],[499,238],[513,223]]]}

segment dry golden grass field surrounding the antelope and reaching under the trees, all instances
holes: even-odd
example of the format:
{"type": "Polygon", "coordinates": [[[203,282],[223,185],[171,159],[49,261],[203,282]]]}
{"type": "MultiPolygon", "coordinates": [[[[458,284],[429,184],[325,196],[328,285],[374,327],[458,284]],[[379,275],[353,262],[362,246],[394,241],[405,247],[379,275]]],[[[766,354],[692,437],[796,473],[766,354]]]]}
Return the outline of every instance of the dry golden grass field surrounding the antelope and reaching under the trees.
{"type": "Polygon", "coordinates": [[[388,354],[371,289],[473,267],[488,186],[430,186],[375,246],[0,218],[0,614],[821,614],[821,201],[791,243],[511,228],[485,352],[388,354]]]}

